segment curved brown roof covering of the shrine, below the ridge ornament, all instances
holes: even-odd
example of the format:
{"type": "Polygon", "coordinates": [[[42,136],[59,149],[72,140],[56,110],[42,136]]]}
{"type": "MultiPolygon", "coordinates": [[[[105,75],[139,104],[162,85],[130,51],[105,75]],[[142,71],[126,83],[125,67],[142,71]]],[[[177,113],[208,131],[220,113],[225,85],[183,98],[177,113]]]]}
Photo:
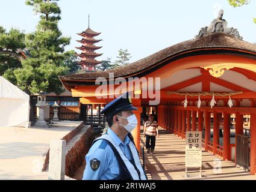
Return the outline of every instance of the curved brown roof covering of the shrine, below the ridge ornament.
{"type": "Polygon", "coordinates": [[[146,58],[140,59],[132,64],[116,67],[108,71],[96,71],[92,73],[80,73],[80,74],[69,74],[60,77],[61,80],[94,80],[97,77],[108,77],[109,73],[114,73],[115,77],[126,77],[134,73],[140,73],[145,71],[147,68],[154,67],[158,62],[164,61],[171,56],[175,56],[182,52],[196,49],[236,49],[236,50],[247,50],[253,52],[256,55],[256,44],[249,43],[247,41],[239,40],[228,34],[213,33],[204,35],[201,38],[194,38],[192,40],[184,41],[182,43],[175,44],[167,47],[166,49],[160,50],[160,52],[154,53],[146,58]]]}

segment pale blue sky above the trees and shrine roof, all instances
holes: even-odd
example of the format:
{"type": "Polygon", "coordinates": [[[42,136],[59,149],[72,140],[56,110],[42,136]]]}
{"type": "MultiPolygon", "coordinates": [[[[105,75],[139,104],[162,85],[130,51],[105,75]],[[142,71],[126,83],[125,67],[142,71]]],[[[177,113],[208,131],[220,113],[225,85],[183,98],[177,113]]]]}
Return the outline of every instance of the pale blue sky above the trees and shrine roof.
{"type": "MultiPolygon", "coordinates": [[[[25,0],[0,0],[0,25],[33,32],[39,16],[25,0]]],[[[239,8],[233,8],[227,0],[60,0],[61,21],[59,28],[63,35],[71,37],[66,50],[76,50],[81,37],[76,35],[88,26],[102,32],[98,38],[103,46],[98,53],[116,60],[117,50],[128,49],[131,62],[145,58],[161,49],[182,41],[190,40],[199,29],[210,25],[223,8],[223,19],[229,27],[237,28],[243,40],[256,42],[256,1],[239,8]]],[[[78,50],[76,50],[78,51],[78,50]]]]}

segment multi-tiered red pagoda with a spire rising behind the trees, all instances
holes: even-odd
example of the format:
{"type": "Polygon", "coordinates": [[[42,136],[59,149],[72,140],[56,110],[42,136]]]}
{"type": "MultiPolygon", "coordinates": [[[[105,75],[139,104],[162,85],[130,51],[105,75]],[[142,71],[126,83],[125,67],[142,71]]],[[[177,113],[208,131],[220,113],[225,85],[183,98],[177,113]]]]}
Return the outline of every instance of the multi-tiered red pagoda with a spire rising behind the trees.
{"type": "Polygon", "coordinates": [[[88,28],[86,31],[78,33],[82,37],[81,40],[76,40],[82,45],[76,47],[76,49],[81,50],[81,53],[76,53],[76,56],[80,57],[78,65],[81,65],[83,70],[86,71],[95,71],[96,65],[101,64],[101,61],[97,61],[95,58],[101,56],[102,53],[96,53],[95,50],[101,49],[99,46],[95,46],[95,43],[98,43],[101,40],[96,40],[95,37],[101,34],[100,32],[95,32],[90,29],[90,14],[88,15],[88,28]]]}

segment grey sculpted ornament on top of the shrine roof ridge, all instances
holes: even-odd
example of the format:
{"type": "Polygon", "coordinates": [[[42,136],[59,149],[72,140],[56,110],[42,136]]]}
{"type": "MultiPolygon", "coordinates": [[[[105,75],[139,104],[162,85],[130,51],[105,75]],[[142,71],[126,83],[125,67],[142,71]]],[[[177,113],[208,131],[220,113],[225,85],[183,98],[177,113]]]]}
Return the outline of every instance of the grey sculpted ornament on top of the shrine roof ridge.
{"type": "Polygon", "coordinates": [[[228,28],[228,22],[226,22],[225,19],[222,19],[223,13],[224,11],[220,10],[217,19],[214,19],[213,22],[211,22],[210,26],[205,26],[204,28],[201,28],[199,34],[196,35],[196,38],[202,38],[204,37],[204,35],[213,33],[224,33],[232,35],[233,37],[236,37],[239,40],[243,40],[243,37],[240,36],[239,31],[237,31],[237,29],[228,28]]]}

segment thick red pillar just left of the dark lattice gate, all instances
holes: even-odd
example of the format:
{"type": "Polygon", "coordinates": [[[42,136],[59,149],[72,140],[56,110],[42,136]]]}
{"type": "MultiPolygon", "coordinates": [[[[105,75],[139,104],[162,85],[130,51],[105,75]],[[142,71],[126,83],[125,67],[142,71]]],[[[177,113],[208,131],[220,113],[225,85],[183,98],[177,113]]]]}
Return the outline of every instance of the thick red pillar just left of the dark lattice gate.
{"type": "Polygon", "coordinates": [[[223,114],[223,159],[230,160],[230,114],[223,114]]]}

